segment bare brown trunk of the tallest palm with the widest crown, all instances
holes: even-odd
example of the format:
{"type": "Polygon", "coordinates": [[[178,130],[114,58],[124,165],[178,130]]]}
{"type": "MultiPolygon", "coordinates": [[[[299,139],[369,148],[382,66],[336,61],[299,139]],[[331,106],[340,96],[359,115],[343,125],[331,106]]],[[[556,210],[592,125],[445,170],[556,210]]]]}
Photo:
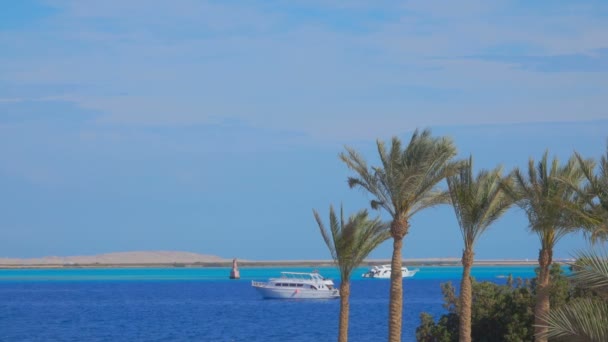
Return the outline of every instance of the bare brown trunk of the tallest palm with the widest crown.
{"type": "Polygon", "coordinates": [[[388,340],[401,342],[403,316],[403,275],[401,273],[401,247],[403,237],[393,238],[393,258],[391,260],[391,293],[389,302],[388,340]]]}

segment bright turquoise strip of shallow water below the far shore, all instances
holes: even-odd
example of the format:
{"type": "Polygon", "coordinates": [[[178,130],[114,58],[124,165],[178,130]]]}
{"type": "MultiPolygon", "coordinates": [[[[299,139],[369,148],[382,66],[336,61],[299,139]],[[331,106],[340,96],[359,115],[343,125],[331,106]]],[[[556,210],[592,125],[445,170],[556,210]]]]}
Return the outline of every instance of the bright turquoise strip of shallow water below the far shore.
{"type": "MultiPolygon", "coordinates": [[[[453,280],[460,278],[462,267],[423,266],[408,281],[418,279],[453,280]]],[[[263,280],[275,277],[281,271],[310,272],[318,270],[326,278],[339,279],[340,274],[334,267],[289,267],[289,268],[241,268],[241,279],[263,280]]],[[[358,268],[353,280],[360,278],[367,267],[358,268]]],[[[229,268],[72,268],[72,269],[0,269],[0,281],[215,281],[227,279],[229,268]]],[[[514,277],[534,277],[532,266],[478,266],[473,267],[472,275],[478,279],[503,278],[512,274],[514,277]]],[[[379,281],[379,280],[374,280],[379,281]]]]}

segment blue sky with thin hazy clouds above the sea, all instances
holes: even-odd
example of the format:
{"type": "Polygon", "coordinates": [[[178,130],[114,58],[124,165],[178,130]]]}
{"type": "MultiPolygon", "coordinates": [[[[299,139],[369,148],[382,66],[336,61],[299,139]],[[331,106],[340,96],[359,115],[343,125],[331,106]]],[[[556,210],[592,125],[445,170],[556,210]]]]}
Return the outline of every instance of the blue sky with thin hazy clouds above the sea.
{"type": "MultiPolygon", "coordinates": [[[[346,185],[345,145],[373,163],[376,139],[429,127],[506,170],[606,151],[604,1],[2,6],[0,257],[329,258],[312,209],[370,199],[346,185]]],[[[403,253],[459,256],[460,240],[452,209],[431,209],[403,253]]],[[[477,257],[538,248],[513,209],[477,257]]]]}

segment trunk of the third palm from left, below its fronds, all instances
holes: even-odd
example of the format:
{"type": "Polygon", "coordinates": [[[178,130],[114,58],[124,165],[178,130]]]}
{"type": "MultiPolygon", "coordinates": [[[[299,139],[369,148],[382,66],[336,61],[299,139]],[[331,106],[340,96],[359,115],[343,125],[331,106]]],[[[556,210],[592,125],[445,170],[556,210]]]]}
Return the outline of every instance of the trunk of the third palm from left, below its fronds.
{"type": "Polygon", "coordinates": [[[473,250],[470,247],[465,248],[462,253],[462,280],[460,281],[460,342],[471,342],[471,307],[473,306],[471,267],[473,258],[473,250]]]}

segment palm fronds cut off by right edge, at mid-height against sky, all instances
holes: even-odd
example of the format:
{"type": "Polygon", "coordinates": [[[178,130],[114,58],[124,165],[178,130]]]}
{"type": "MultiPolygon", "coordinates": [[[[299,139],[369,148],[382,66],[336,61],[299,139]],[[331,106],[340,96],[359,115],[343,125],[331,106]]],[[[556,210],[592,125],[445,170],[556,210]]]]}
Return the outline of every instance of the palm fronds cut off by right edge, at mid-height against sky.
{"type": "Polygon", "coordinates": [[[608,240],[608,145],[606,155],[599,161],[597,174],[594,172],[593,161],[584,159],[578,153],[575,156],[587,179],[587,186],[582,193],[587,195],[588,212],[596,221],[590,229],[591,241],[608,240]]]}

